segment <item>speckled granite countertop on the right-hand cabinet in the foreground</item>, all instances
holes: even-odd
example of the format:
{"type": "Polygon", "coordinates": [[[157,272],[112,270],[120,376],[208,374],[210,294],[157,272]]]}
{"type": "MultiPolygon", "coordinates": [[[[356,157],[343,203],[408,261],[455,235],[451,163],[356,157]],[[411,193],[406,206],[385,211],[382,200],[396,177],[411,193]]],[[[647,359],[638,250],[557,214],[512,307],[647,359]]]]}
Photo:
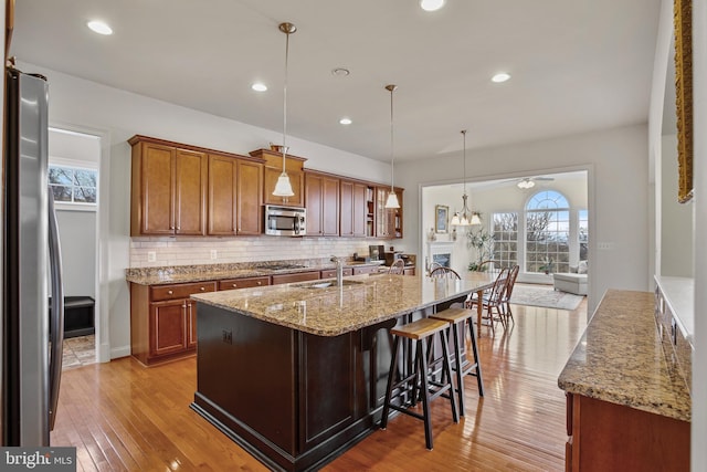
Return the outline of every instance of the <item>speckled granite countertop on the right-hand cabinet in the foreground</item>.
{"type": "Polygon", "coordinates": [[[651,292],[610,290],[564,369],[562,390],[690,421],[692,399],[663,350],[651,292]]]}

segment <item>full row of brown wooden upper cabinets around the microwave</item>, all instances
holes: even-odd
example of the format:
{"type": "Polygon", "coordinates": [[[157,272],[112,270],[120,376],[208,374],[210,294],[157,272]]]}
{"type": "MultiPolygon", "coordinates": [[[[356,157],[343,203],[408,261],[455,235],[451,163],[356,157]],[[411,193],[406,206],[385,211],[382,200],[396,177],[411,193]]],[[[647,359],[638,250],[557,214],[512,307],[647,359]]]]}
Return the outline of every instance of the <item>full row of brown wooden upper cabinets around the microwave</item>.
{"type": "MultiPolygon", "coordinates": [[[[136,135],[130,235],[261,235],[263,206],[307,209],[307,235],[402,238],[402,208],[384,208],[390,187],[307,169],[286,156],[294,196],[273,196],[283,155],[250,156],[136,135]]],[[[402,206],[403,189],[395,188],[402,206]]]]}

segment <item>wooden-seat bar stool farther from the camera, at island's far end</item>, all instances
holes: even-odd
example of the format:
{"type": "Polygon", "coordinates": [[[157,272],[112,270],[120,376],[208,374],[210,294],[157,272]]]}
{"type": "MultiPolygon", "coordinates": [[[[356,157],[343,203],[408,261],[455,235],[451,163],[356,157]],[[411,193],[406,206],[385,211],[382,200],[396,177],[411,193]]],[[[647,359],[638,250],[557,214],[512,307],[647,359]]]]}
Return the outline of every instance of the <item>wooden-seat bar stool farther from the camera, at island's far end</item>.
{"type": "Polygon", "coordinates": [[[447,337],[450,329],[454,338],[454,366],[452,370],[456,374],[456,392],[460,397],[460,413],[464,416],[464,376],[472,375],[476,377],[478,385],[478,395],[484,396],[484,380],[482,379],[482,365],[478,360],[478,347],[476,346],[476,333],[474,332],[474,314],[475,312],[467,308],[447,308],[440,313],[430,315],[431,319],[440,319],[447,323],[447,337]],[[462,324],[462,342],[460,343],[458,325],[462,324]],[[474,353],[474,361],[464,357],[466,350],[466,335],[464,325],[468,324],[469,337],[472,338],[472,352],[474,353]]]}

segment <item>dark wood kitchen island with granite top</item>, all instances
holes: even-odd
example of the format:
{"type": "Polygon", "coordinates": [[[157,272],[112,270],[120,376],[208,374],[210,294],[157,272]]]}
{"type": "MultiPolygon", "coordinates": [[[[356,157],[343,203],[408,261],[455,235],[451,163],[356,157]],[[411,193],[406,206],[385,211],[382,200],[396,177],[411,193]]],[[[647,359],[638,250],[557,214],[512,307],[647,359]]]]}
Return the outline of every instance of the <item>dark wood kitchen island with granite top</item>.
{"type": "Polygon", "coordinates": [[[376,430],[389,329],[489,283],[376,274],[192,295],[191,407],[271,469],[318,469],[376,430]]]}

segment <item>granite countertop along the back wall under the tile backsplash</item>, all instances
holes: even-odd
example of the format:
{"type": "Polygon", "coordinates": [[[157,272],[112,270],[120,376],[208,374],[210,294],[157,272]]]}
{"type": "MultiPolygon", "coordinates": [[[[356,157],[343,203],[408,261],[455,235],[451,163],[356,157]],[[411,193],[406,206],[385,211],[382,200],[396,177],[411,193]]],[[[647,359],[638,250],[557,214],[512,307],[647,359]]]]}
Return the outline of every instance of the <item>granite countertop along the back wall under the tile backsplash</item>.
{"type": "MultiPolygon", "coordinates": [[[[345,268],[360,268],[366,265],[381,265],[378,262],[348,262],[345,268]]],[[[232,264],[172,265],[162,268],[126,269],[125,280],[139,285],[167,285],[173,283],[218,281],[224,279],[242,279],[267,276],[274,274],[292,274],[297,272],[326,271],[336,269],[329,261],[272,261],[244,262],[232,264]],[[277,269],[282,265],[299,265],[277,269]]]]}

